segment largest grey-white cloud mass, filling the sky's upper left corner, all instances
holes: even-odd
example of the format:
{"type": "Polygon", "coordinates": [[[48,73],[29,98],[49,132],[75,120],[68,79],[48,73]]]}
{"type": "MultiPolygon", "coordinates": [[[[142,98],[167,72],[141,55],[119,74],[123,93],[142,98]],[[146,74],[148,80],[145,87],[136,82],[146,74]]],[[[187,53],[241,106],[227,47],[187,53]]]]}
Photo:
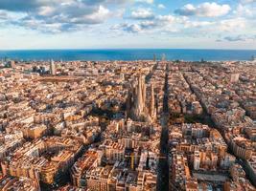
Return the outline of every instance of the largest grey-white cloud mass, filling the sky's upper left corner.
{"type": "MultiPolygon", "coordinates": [[[[120,16],[119,7],[130,0],[0,0],[0,10],[23,13],[22,18],[6,19],[7,24],[42,32],[65,32],[81,26],[104,23],[109,17],[120,16]],[[36,24],[40,26],[35,26],[36,24]],[[41,30],[42,29],[42,30],[41,30]],[[58,29],[58,30],[56,30],[58,29]]],[[[3,16],[2,16],[3,17],[3,16]]],[[[84,29],[84,28],[83,28],[84,29]]]]}

